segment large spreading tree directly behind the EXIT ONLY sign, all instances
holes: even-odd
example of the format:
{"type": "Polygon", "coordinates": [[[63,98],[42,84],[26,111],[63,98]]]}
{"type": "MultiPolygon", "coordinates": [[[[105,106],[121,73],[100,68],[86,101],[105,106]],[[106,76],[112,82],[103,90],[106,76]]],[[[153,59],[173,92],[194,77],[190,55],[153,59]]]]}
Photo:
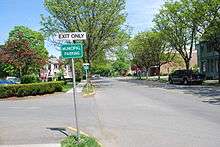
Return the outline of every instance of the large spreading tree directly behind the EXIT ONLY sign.
{"type": "Polygon", "coordinates": [[[84,62],[91,65],[100,52],[120,43],[125,0],[45,0],[44,5],[51,15],[42,16],[41,30],[45,36],[53,38],[58,32],[87,32],[84,62]]]}

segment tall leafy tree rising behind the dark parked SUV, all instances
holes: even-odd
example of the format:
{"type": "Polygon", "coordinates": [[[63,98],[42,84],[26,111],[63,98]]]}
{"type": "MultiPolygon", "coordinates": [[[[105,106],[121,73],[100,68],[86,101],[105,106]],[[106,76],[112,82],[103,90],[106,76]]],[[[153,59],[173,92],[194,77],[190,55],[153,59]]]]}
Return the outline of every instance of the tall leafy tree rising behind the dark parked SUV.
{"type": "Polygon", "coordinates": [[[168,38],[171,46],[179,52],[190,68],[192,50],[204,30],[204,24],[214,19],[211,10],[216,9],[219,0],[167,1],[156,15],[155,29],[168,38]],[[216,2],[215,5],[212,5],[216,2]]]}

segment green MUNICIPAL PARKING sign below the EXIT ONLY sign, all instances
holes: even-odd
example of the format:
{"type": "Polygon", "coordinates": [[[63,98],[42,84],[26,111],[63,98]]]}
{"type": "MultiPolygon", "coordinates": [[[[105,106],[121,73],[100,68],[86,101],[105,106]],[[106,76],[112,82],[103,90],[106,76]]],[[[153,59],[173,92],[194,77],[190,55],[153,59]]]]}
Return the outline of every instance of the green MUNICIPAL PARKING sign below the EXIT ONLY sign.
{"type": "Polygon", "coordinates": [[[80,43],[61,45],[61,55],[65,59],[77,59],[83,57],[83,45],[80,43]]]}

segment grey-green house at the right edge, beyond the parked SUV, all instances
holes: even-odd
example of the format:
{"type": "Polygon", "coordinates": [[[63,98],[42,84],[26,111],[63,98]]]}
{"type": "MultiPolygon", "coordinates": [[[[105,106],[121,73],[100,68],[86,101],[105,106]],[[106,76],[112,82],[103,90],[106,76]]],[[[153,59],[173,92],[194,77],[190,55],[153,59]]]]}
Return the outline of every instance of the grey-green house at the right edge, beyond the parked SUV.
{"type": "Polygon", "coordinates": [[[207,44],[208,42],[202,41],[196,45],[199,70],[206,75],[207,79],[218,79],[220,55],[213,48],[208,47],[207,44]]]}

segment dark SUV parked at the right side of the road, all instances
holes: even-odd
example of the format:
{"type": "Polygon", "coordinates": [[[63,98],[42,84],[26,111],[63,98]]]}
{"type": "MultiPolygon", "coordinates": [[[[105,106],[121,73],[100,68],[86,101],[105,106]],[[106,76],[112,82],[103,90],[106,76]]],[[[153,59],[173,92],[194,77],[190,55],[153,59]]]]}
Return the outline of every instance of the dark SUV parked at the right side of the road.
{"type": "Polygon", "coordinates": [[[199,72],[194,72],[192,70],[176,70],[171,73],[168,77],[170,84],[180,83],[180,84],[202,84],[205,80],[205,75],[199,72]]]}

